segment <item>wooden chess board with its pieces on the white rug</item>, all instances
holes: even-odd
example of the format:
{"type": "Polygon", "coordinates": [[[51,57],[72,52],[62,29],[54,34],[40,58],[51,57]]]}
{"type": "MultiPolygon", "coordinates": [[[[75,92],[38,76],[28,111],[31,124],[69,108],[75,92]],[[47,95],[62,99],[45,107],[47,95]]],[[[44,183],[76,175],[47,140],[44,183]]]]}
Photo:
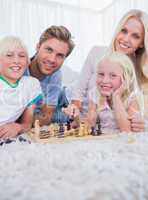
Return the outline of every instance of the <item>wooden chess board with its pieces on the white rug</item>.
{"type": "Polygon", "coordinates": [[[64,143],[73,140],[96,140],[117,137],[118,134],[100,134],[92,130],[86,124],[80,124],[78,128],[67,130],[65,125],[51,124],[40,127],[38,121],[35,127],[28,132],[28,136],[37,143],[64,143]]]}

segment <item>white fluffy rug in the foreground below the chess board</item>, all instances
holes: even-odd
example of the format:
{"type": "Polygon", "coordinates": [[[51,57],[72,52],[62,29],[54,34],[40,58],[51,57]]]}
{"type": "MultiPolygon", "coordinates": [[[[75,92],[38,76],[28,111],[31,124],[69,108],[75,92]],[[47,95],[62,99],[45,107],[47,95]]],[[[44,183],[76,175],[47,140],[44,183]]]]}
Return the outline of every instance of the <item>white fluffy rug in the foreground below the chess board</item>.
{"type": "Polygon", "coordinates": [[[148,133],[0,147],[1,200],[147,200],[148,133]]]}

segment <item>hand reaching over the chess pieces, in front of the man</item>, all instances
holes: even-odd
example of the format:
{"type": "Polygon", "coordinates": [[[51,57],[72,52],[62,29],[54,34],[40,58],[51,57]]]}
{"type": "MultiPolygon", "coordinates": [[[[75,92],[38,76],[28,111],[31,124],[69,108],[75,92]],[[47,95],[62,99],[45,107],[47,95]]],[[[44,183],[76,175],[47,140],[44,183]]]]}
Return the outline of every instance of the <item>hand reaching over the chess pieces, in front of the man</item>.
{"type": "Polygon", "coordinates": [[[70,104],[67,108],[62,108],[62,111],[69,117],[78,117],[80,115],[80,110],[75,104],[70,104]]]}

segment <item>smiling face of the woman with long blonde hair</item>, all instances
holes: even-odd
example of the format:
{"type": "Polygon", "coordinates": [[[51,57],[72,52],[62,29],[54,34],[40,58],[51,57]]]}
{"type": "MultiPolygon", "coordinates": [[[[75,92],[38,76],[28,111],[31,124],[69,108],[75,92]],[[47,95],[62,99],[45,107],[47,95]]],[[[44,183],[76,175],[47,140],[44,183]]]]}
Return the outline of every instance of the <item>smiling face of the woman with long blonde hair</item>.
{"type": "Polygon", "coordinates": [[[144,45],[144,26],[136,17],[130,17],[117,34],[115,50],[132,55],[144,45]]]}

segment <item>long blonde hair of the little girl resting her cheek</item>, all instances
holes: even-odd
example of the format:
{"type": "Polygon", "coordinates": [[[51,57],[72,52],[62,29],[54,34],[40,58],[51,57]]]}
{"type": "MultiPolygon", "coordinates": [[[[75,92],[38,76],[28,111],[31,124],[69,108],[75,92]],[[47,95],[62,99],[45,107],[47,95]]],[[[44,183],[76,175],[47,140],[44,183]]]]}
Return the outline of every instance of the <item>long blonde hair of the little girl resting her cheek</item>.
{"type": "MultiPolygon", "coordinates": [[[[123,69],[123,79],[125,80],[125,84],[127,86],[122,95],[122,100],[125,105],[125,108],[128,107],[128,97],[131,94],[133,94],[138,101],[141,114],[143,114],[144,110],[143,95],[140,92],[138,86],[135,68],[132,60],[127,55],[120,52],[110,52],[106,54],[101,61],[103,60],[109,60],[111,62],[118,63],[121,66],[121,68],[123,69]]],[[[97,71],[99,70],[101,61],[98,64],[97,71]]]]}

